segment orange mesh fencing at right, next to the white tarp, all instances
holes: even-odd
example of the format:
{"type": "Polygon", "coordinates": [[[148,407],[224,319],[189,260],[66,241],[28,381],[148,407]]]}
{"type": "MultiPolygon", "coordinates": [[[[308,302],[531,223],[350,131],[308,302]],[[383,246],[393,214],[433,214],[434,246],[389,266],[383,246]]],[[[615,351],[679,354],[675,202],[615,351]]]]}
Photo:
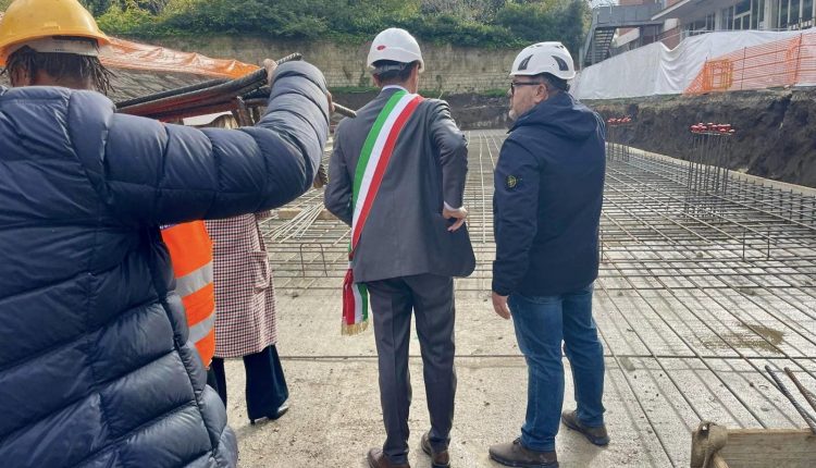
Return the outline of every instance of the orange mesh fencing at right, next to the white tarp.
{"type": "Polygon", "coordinates": [[[706,60],[683,94],[816,85],[816,32],[706,60]]]}

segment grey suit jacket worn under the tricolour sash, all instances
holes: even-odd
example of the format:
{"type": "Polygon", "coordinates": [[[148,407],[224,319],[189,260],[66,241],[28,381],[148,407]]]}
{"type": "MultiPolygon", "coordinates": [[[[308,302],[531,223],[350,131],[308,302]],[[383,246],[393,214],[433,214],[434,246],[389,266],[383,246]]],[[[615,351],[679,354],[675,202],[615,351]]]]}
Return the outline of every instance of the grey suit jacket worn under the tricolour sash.
{"type": "MultiPolygon", "coordinates": [[[[351,190],[362,145],[396,89],[386,89],[341,122],[329,167],[325,206],[351,224],[351,190]]],[[[438,274],[467,276],[475,258],[467,229],[448,232],[443,204],[462,206],[468,172],[465,135],[447,102],[426,99],[399,134],[353,261],[359,282],[438,274]]]]}

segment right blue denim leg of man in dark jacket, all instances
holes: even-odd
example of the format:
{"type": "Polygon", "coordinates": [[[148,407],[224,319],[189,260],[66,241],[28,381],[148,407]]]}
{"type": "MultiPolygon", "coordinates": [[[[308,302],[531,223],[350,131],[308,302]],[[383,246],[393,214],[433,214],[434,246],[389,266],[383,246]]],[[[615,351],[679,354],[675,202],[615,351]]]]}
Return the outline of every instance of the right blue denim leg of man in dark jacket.
{"type": "Polygon", "coordinates": [[[604,424],[604,347],[592,318],[592,285],[565,294],[564,350],[572,368],[578,419],[589,427],[604,424]]]}

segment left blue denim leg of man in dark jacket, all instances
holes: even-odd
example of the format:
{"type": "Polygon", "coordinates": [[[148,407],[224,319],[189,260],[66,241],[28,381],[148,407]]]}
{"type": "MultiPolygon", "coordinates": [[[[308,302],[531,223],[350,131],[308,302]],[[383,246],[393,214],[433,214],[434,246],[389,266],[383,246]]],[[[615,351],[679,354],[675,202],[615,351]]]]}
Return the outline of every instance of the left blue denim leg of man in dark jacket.
{"type": "Polygon", "coordinates": [[[514,294],[508,304],[528,367],[527,420],[521,427],[521,443],[532,451],[555,451],[564,403],[561,298],[514,294]]]}

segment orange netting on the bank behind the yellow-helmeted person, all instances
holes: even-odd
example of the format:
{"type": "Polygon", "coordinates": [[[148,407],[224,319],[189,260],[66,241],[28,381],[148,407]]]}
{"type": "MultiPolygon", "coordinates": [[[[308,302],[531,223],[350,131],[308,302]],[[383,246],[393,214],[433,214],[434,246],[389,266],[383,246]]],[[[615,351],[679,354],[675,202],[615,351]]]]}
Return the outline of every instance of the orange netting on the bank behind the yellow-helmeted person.
{"type": "MultiPolygon", "coordinates": [[[[3,13],[0,12],[0,20],[2,17],[3,13]]],[[[115,37],[111,37],[111,47],[99,59],[114,69],[191,73],[218,78],[237,78],[259,69],[237,60],[211,59],[195,52],[181,52],[115,37]]]]}

